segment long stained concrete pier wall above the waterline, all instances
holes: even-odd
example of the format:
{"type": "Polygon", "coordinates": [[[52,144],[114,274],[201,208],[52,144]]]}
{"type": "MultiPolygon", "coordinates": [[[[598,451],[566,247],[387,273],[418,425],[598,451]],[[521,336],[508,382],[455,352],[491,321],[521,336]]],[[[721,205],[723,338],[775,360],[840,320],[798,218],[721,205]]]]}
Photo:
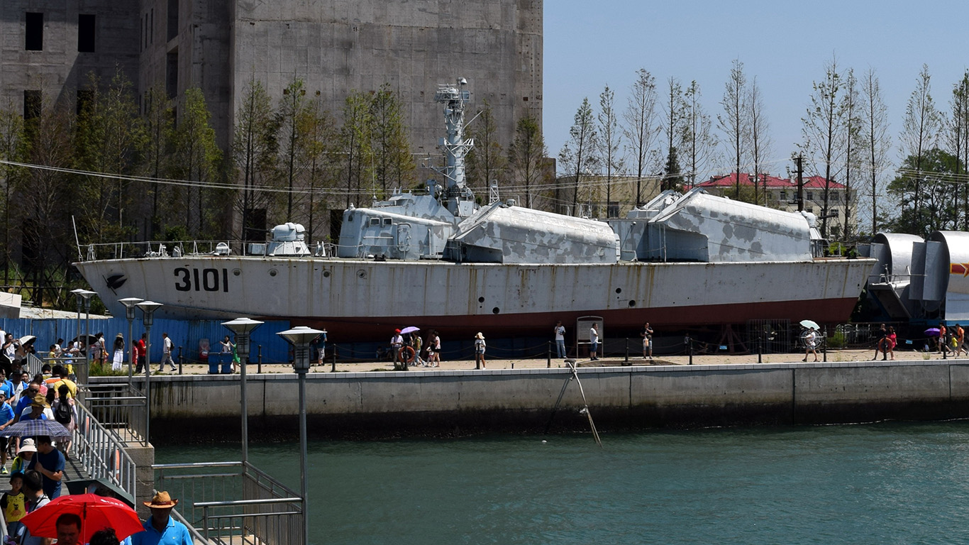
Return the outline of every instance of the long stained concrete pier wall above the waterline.
{"type": "MultiPolygon", "coordinates": [[[[317,436],[534,433],[588,423],[568,369],[311,373],[317,436]]],[[[849,362],[578,369],[600,431],[742,424],[816,424],[969,416],[969,361],[849,362]]],[[[97,380],[105,380],[99,378],[97,380]]],[[[297,430],[296,374],[250,375],[250,433],[297,430]]],[[[232,438],[238,375],[152,378],[152,432],[232,438]]],[[[154,438],[154,437],[153,437],[154,438]]]]}

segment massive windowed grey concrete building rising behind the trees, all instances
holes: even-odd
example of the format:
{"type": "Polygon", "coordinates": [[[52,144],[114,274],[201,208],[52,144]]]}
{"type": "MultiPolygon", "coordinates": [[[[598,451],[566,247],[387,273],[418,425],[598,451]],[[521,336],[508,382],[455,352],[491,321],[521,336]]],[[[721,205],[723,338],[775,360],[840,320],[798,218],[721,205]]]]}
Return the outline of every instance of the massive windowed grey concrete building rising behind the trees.
{"type": "Polygon", "coordinates": [[[491,105],[502,144],[519,117],[542,121],[543,0],[4,0],[0,17],[0,96],[17,109],[38,91],[74,100],[88,72],[118,66],[176,106],[202,88],[223,148],[253,79],[278,101],[300,78],[337,116],[351,90],[388,82],[418,154],[436,155],[434,90],[457,77],[491,105]]]}

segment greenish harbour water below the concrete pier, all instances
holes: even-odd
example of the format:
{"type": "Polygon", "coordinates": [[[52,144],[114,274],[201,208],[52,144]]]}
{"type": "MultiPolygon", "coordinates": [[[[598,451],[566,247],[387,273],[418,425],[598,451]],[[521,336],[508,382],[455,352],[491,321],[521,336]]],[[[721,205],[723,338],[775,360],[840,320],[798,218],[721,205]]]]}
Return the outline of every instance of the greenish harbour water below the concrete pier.
{"type": "MultiPolygon", "coordinates": [[[[310,443],[311,541],[969,543],[969,423],[310,443]],[[543,442],[547,439],[547,442],[543,442]]],[[[159,447],[159,463],[238,459],[159,447]]],[[[298,490],[298,444],[250,459],[298,490]]]]}

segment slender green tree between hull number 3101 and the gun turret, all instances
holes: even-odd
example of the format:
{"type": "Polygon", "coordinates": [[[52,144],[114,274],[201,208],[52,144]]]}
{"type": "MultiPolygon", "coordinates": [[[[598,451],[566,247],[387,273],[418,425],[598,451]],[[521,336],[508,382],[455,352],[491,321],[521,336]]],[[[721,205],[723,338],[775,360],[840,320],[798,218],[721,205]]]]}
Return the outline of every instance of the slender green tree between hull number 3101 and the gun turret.
{"type": "Polygon", "coordinates": [[[265,239],[262,230],[266,226],[252,225],[251,212],[255,208],[267,208],[269,204],[267,193],[259,189],[274,182],[278,130],[279,119],[272,110],[266,87],[260,80],[249,80],[235,112],[233,135],[233,161],[242,178],[241,199],[236,200],[242,215],[241,240],[265,239]]]}

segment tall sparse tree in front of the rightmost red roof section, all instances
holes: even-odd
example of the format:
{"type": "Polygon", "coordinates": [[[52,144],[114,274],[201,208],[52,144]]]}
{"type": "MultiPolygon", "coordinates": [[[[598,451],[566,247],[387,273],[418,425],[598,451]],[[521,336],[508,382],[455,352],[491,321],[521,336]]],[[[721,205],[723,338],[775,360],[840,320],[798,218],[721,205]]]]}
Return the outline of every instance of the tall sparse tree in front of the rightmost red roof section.
{"type": "Polygon", "coordinates": [[[844,159],[844,101],[841,74],[838,72],[837,59],[831,57],[825,66],[825,78],[814,82],[811,104],[807,114],[801,119],[801,134],[805,158],[813,165],[815,172],[824,169],[825,189],[822,191],[821,236],[828,236],[828,209],[830,201],[830,182],[837,176],[844,159]]]}

